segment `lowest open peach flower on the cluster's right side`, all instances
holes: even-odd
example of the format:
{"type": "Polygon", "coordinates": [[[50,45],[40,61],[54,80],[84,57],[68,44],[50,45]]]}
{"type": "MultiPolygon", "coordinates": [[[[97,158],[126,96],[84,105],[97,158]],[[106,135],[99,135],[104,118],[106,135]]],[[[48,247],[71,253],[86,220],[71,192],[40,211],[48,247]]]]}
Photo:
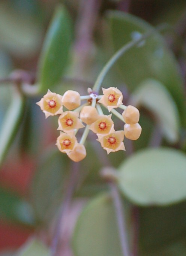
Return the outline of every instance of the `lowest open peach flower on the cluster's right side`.
{"type": "Polygon", "coordinates": [[[101,146],[107,150],[107,154],[110,152],[116,152],[118,150],[125,150],[123,139],[124,131],[114,131],[113,133],[107,134],[105,136],[98,135],[98,141],[101,146]]]}

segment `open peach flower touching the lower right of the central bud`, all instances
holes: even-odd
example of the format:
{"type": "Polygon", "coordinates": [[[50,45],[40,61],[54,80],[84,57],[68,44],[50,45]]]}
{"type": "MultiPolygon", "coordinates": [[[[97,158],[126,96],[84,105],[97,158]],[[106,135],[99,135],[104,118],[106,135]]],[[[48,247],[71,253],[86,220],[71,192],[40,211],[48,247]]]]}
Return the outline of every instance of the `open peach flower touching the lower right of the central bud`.
{"type": "Polygon", "coordinates": [[[114,122],[111,119],[112,114],[110,115],[100,115],[96,122],[90,125],[89,129],[94,133],[98,134],[108,134],[114,129],[114,122]]]}

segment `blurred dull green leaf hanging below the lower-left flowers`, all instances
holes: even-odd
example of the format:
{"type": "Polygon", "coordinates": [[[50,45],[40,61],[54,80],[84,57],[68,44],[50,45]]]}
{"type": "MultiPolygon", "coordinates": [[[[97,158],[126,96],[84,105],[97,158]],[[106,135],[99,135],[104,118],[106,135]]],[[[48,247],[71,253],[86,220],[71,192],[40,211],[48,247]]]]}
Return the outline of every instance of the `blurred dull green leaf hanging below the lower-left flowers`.
{"type": "Polygon", "coordinates": [[[31,185],[31,200],[40,221],[49,220],[62,202],[68,163],[65,154],[48,148],[37,166],[31,185]]]}

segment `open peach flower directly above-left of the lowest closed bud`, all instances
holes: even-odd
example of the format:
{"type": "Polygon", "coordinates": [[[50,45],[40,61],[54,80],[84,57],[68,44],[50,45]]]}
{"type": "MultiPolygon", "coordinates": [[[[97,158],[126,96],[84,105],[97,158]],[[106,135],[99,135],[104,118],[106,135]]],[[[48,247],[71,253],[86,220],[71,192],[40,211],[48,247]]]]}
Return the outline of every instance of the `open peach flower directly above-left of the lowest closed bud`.
{"type": "Polygon", "coordinates": [[[77,138],[74,133],[67,134],[60,132],[60,136],[57,137],[57,145],[58,149],[66,154],[69,154],[72,150],[74,150],[75,145],[77,144],[77,138]]]}

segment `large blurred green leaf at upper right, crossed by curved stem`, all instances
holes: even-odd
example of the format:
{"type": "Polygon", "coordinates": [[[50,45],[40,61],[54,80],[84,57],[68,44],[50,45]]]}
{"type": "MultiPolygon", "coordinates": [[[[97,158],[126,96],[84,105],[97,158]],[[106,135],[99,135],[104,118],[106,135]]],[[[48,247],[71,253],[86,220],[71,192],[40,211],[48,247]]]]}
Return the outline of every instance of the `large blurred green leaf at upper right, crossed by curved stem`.
{"type": "MultiPolygon", "coordinates": [[[[114,52],[152,29],[145,21],[123,12],[110,11],[107,20],[114,52]]],[[[136,85],[148,78],[157,79],[165,85],[178,105],[181,121],[186,126],[183,80],[177,62],[158,32],[154,31],[153,36],[128,50],[118,60],[118,67],[130,90],[134,90],[136,85]]]]}

